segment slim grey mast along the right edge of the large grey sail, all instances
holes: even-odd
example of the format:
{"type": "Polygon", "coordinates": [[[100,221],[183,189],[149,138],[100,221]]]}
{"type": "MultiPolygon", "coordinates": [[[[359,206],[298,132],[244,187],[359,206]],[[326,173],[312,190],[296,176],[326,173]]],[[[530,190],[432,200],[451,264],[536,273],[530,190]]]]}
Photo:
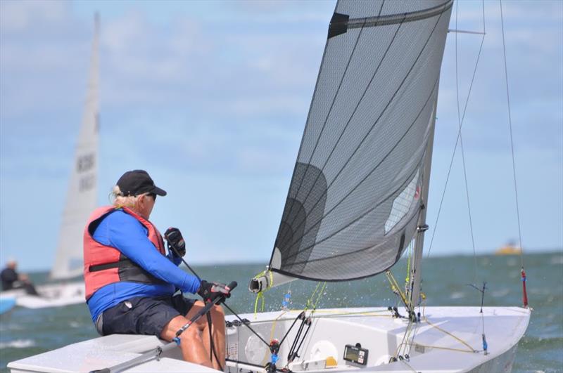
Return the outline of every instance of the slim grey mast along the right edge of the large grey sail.
{"type": "MultiPolygon", "coordinates": [[[[439,83],[438,83],[439,86],[439,83]]],[[[438,87],[436,87],[438,90],[438,87]]],[[[410,289],[410,307],[414,312],[415,307],[419,306],[420,303],[420,290],[422,282],[422,251],[424,249],[424,233],[428,230],[428,225],[426,225],[426,207],[428,206],[428,192],[430,185],[430,171],[432,162],[432,150],[434,148],[434,129],[436,127],[436,109],[438,107],[438,96],[436,95],[436,100],[434,101],[434,109],[431,115],[431,126],[430,126],[430,136],[428,144],[426,145],[426,156],[424,158],[424,183],[422,185],[422,196],[420,203],[420,214],[417,222],[417,233],[415,235],[415,258],[413,260],[413,265],[410,270],[411,283],[410,289]]]]}

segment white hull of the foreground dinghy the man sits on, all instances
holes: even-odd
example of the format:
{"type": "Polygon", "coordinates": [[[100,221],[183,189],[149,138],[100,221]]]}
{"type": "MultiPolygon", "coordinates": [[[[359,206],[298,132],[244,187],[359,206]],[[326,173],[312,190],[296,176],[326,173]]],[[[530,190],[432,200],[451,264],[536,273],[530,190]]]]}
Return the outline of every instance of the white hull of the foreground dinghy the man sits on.
{"type": "MultiPolygon", "coordinates": [[[[241,315],[265,341],[281,340],[300,311],[241,315]]],[[[407,331],[408,322],[392,318],[386,308],[335,308],[317,310],[297,358],[293,372],[510,372],[517,343],[529,323],[530,310],[517,307],[483,308],[483,319],[475,307],[427,307],[421,322],[407,331]],[[482,320],[488,341],[483,353],[482,320]],[[405,339],[405,332],[409,338],[405,339]],[[414,335],[414,338],[413,338],[414,335]],[[403,341],[407,340],[407,343],[403,341]],[[369,351],[366,365],[343,359],[344,347],[360,343],[369,351]],[[398,348],[407,360],[389,363],[398,348]],[[476,352],[474,352],[476,351],[476,352]],[[326,358],[335,367],[324,367],[326,358]]],[[[236,320],[228,316],[227,320],[236,320]]],[[[286,365],[299,322],[281,343],[277,367],[286,365]]],[[[111,335],[75,343],[58,350],[8,364],[12,372],[84,372],[124,362],[160,346],[154,336],[111,335]]],[[[152,360],[127,372],[203,372],[205,368],[182,362],[176,348],[160,361],[152,360]]],[[[263,372],[270,351],[243,325],[227,327],[227,367],[263,372]]],[[[210,369],[205,371],[212,371],[210,369]]]]}

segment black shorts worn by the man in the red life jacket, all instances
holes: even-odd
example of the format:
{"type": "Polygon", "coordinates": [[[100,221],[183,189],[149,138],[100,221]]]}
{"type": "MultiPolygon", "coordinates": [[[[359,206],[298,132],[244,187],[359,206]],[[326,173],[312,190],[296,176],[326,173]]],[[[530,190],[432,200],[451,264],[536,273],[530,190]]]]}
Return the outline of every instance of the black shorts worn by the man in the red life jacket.
{"type": "Polygon", "coordinates": [[[182,294],[176,296],[155,296],[122,301],[104,310],[96,321],[100,334],[148,334],[160,338],[165,325],[177,315],[185,316],[194,306],[194,299],[182,294]]]}

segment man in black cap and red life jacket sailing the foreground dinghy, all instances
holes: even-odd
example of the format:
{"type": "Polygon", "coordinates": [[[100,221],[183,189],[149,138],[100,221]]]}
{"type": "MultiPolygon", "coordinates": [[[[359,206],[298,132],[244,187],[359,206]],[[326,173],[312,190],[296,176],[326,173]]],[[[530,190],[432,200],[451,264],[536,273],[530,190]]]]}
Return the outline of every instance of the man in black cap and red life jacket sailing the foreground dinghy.
{"type": "MultiPolygon", "coordinates": [[[[92,321],[101,335],[153,334],[172,341],[205,306],[182,292],[208,302],[229,296],[230,289],[179,269],[185,247],[179,256],[172,250],[165,253],[163,237],[148,218],[156,196],[166,192],[146,171],[125,172],[112,195],[113,205],[96,209],[84,229],[84,282],[92,321]],[[175,294],[177,290],[181,293],[175,294]]],[[[184,360],[222,369],[225,326],[220,306],[211,308],[210,319],[210,325],[203,317],[186,329],[179,346],[184,360]]]]}

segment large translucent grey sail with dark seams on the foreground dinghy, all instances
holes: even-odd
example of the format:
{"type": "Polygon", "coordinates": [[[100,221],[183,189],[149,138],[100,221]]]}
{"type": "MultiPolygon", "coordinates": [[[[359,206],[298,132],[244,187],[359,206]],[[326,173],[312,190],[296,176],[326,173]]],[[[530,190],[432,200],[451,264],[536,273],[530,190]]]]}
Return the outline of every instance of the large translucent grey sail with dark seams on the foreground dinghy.
{"type": "Polygon", "coordinates": [[[403,254],[426,203],[452,3],[336,4],[270,270],[353,280],[403,254]]]}

